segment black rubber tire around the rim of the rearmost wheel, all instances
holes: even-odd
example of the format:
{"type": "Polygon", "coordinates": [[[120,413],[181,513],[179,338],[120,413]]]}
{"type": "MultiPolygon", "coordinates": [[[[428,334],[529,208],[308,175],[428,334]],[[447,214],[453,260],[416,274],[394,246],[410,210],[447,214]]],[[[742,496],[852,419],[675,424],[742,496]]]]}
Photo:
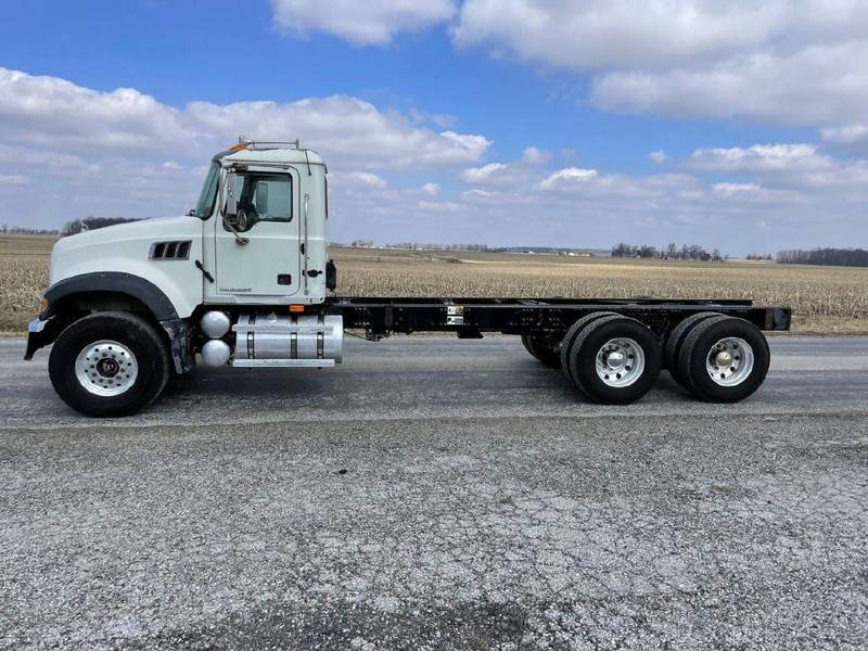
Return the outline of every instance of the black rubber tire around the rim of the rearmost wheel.
{"type": "Polygon", "coordinates": [[[706,403],[738,403],[753,394],[768,373],[770,354],[765,335],[753,323],[736,317],[715,317],[695,326],[681,344],[678,355],[678,373],[684,386],[706,403]],[[709,353],[719,340],[738,336],[751,345],[754,354],[753,371],[741,384],[720,386],[705,368],[709,353]]]}

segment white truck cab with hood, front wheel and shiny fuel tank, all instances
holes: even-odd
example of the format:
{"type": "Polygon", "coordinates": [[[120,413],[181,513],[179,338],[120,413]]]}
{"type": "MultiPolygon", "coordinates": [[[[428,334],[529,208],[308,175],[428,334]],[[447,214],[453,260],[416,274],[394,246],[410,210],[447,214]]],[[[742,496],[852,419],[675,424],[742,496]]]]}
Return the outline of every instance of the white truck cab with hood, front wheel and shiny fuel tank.
{"type": "Polygon", "coordinates": [[[212,158],[188,215],[64,238],[25,358],[54,343],[55,390],[97,416],[140,408],[196,360],[340,362],[341,318],[323,310],[335,284],[327,174],[322,157],[297,141],[242,137],[212,158]],[[135,343],[120,341],[127,331],[135,343]]]}

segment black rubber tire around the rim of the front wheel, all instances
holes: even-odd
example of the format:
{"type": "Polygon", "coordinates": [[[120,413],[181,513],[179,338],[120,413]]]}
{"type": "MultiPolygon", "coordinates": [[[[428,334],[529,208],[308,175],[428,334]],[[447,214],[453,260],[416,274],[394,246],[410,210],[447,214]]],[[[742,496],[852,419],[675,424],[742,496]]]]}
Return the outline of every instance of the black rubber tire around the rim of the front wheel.
{"type": "Polygon", "coordinates": [[[130,416],[153,403],[169,379],[166,344],[153,326],[128,312],[99,312],[84,317],[64,330],[51,348],[49,376],[54,391],[69,407],[99,418],[130,416]],[[98,396],[78,381],[75,362],[79,353],[99,340],[127,346],[139,363],[135,384],[118,396],[98,396]]]}

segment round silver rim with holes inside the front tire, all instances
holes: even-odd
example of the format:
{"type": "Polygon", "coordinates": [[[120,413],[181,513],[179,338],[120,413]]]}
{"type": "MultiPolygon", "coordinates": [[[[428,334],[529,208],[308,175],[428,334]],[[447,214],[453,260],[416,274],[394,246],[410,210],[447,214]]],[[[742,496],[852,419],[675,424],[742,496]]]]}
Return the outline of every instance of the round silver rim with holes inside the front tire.
{"type": "Polygon", "coordinates": [[[124,344],[102,340],[81,349],[75,360],[75,375],[89,393],[111,398],[136,384],[139,362],[124,344]]]}

